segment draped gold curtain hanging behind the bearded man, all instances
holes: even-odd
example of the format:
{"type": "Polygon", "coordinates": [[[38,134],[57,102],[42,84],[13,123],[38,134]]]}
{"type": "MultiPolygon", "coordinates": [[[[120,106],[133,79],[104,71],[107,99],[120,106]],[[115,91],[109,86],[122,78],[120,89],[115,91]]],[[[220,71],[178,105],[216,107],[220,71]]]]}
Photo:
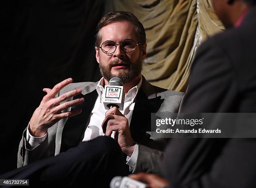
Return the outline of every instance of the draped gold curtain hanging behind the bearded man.
{"type": "Polygon", "coordinates": [[[186,91],[197,47],[223,29],[210,0],[109,0],[108,11],[133,13],[146,30],[142,74],[151,84],[186,91]]]}

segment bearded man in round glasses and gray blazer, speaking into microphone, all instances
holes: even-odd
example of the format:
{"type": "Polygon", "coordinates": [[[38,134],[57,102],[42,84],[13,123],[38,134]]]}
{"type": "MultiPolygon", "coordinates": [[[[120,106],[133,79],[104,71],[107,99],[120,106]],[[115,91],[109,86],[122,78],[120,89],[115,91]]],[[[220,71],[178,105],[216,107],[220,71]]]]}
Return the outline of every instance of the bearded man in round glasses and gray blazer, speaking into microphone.
{"type": "MultiPolygon", "coordinates": [[[[47,94],[20,141],[18,167],[25,166],[24,171],[33,169],[36,174],[46,168],[45,179],[49,180],[49,174],[57,170],[55,180],[67,180],[66,185],[72,185],[79,175],[89,177],[85,171],[90,172],[90,177],[101,172],[107,181],[114,175],[109,169],[116,175],[125,174],[125,170],[159,173],[166,140],[151,138],[151,114],[179,112],[184,94],[152,86],[141,75],[146,33],[131,13],[115,11],[100,20],[95,51],[103,76],[100,81],[72,83],[69,78],[52,89],[43,89],[47,94]],[[123,82],[124,106],[108,110],[102,102],[104,86],[114,76],[123,82]],[[56,157],[46,159],[51,156],[56,157]],[[26,168],[28,163],[38,160],[43,161],[37,163],[41,165],[26,168]],[[120,164],[120,160],[124,161],[125,170],[113,165],[120,164]],[[69,175],[74,173],[78,176],[70,179],[69,175]]],[[[38,180],[38,176],[34,178],[38,180]]]]}

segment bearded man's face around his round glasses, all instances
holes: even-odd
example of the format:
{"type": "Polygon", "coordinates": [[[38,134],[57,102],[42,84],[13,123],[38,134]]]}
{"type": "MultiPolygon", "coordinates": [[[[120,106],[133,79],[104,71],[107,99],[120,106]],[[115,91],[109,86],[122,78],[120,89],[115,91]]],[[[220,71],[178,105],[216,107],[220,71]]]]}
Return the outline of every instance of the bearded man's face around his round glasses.
{"type": "MultiPolygon", "coordinates": [[[[125,39],[133,39],[138,43],[135,28],[129,22],[111,23],[100,30],[101,43],[105,41],[113,41],[121,43],[125,39]]],[[[100,72],[106,80],[112,77],[119,77],[123,84],[141,76],[142,61],[146,58],[146,44],[139,46],[132,52],[125,52],[120,45],[112,54],[105,54],[101,49],[96,50],[96,59],[100,64],[100,72]]]]}

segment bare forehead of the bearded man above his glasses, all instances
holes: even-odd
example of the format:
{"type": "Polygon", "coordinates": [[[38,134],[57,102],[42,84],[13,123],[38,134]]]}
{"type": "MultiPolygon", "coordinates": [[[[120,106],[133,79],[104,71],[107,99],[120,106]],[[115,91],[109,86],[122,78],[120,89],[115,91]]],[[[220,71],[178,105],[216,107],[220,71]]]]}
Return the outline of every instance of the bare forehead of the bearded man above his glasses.
{"type": "Polygon", "coordinates": [[[102,41],[123,41],[131,38],[136,40],[135,27],[127,21],[110,23],[100,30],[102,41]]]}

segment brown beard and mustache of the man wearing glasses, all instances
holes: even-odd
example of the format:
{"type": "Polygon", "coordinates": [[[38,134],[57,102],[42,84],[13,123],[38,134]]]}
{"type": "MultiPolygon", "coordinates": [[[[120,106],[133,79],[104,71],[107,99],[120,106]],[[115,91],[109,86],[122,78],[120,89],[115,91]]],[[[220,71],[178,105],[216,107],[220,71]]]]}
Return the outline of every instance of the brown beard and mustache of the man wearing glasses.
{"type": "Polygon", "coordinates": [[[108,66],[104,66],[100,62],[100,73],[101,75],[107,79],[108,81],[113,77],[118,77],[123,81],[123,84],[132,81],[136,76],[141,74],[142,71],[142,59],[139,58],[135,63],[131,63],[129,61],[123,61],[121,59],[116,59],[114,61],[110,61],[110,64],[108,66]],[[111,69],[115,64],[125,64],[128,69],[117,69],[117,73],[112,74],[111,69]],[[128,71],[127,71],[128,70],[128,71]]]}

